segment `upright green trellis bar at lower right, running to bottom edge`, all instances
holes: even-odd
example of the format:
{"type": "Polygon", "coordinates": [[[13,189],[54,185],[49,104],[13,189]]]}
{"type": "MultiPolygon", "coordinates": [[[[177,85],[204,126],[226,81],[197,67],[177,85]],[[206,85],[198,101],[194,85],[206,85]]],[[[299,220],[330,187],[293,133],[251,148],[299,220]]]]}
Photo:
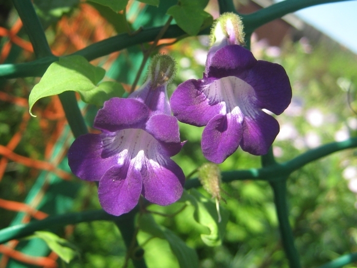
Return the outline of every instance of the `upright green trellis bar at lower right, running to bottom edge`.
{"type": "Polygon", "coordinates": [[[270,182],[274,191],[274,203],[279,220],[279,229],[282,236],[282,246],[289,261],[290,268],[301,268],[299,253],[294,245],[294,236],[289,223],[289,212],[286,202],[286,179],[270,182]]]}

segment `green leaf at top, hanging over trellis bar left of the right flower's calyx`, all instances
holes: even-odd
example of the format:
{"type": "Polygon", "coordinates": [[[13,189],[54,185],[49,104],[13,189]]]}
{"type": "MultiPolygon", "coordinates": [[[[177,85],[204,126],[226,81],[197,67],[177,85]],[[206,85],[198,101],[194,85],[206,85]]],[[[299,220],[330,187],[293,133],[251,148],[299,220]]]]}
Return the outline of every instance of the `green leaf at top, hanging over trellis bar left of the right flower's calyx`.
{"type": "Polygon", "coordinates": [[[212,17],[196,5],[174,5],[168,9],[167,14],[172,16],[177,25],[190,36],[197,35],[205,20],[212,17]]]}

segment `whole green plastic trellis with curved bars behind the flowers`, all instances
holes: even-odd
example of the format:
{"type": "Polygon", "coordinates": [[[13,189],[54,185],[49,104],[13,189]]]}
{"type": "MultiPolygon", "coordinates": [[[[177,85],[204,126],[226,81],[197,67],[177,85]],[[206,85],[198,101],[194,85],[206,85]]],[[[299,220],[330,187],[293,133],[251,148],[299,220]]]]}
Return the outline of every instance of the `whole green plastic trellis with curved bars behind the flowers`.
{"type": "MultiPolygon", "coordinates": [[[[255,29],[263,24],[281,18],[282,16],[295,12],[305,7],[339,2],[344,0],[285,0],[273,4],[267,8],[257,11],[253,14],[242,15],[244,28],[246,31],[247,43],[249,44],[250,35],[255,29]]],[[[14,0],[14,5],[18,10],[19,16],[23,22],[25,30],[34,47],[37,59],[32,62],[20,64],[2,64],[0,65],[0,77],[17,78],[17,77],[34,77],[42,76],[47,67],[58,58],[52,55],[47,43],[44,31],[33,8],[31,0],[14,0]]],[[[219,0],[220,12],[235,12],[231,0],[219,0]]],[[[93,60],[97,57],[108,55],[112,52],[131,47],[136,44],[149,42],[155,39],[160,32],[161,27],[153,27],[144,29],[135,35],[120,34],[112,38],[94,43],[82,50],[75,52],[73,55],[81,55],[88,60],[93,60]]],[[[207,34],[208,29],[200,32],[201,35],[207,34]]],[[[184,35],[184,32],[177,25],[170,25],[163,38],[177,38],[184,35]]],[[[87,133],[87,127],[80,113],[74,92],[65,92],[59,95],[63,105],[69,125],[75,137],[87,133]]],[[[282,235],[282,243],[289,260],[291,268],[300,268],[299,254],[294,246],[294,238],[291,227],[288,222],[288,208],[286,202],[286,180],[289,174],[303,165],[327,156],[331,153],[357,147],[357,138],[351,138],[344,142],[335,142],[323,145],[317,149],[310,150],[300,156],[287,161],[285,163],[277,163],[272,154],[272,149],[266,155],[262,156],[262,168],[250,170],[236,170],[231,172],[223,172],[222,178],[224,182],[233,180],[265,180],[268,181],[274,191],[274,202],[277,209],[280,231],[282,235]]],[[[185,188],[199,187],[197,179],[189,180],[185,188]]],[[[0,243],[5,243],[11,239],[18,239],[31,234],[36,230],[42,230],[53,226],[64,226],[83,221],[93,220],[112,220],[115,222],[122,232],[126,246],[129,247],[134,234],[133,219],[136,210],[120,216],[113,217],[103,211],[86,211],[78,213],[63,214],[50,216],[45,220],[31,222],[25,225],[16,225],[0,230],[0,243]]],[[[357,260],[357,254],[342,256],[335,261],[323,265],[321,268],[338,268],[348,263],[357,260]]],[[[136,268],[145,268],[144,259],[133,260],[136,268]]]]}

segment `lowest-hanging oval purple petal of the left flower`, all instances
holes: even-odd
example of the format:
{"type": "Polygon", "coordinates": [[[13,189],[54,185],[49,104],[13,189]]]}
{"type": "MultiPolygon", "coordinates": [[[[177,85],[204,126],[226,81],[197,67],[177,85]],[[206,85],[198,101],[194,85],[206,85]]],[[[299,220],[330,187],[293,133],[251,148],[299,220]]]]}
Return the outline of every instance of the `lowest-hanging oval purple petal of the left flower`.
{"type": "Polygon", "coordinates": [[[115,216],[127,213],[138,203],[141,189],[141,174],[129,166],[129,161],[121,166],[115,165],[99,181],[100,205],[115,216]]]}

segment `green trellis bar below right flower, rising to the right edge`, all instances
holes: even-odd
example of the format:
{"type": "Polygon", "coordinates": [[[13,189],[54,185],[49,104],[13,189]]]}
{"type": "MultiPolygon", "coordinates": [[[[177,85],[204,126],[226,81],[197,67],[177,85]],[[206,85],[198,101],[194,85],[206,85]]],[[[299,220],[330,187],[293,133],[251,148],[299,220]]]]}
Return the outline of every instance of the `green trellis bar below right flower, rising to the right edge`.
{"type": "MultiPolygon", "coordinates": [[[[325,157],[331,153],[336,153],[345,149],[357,147],[357,137],[345,141],[332,142],[322,145],[316,149],[301,153],[299,156],[284,163],[263,167],[261,169],[235,170],[222,172],[222,181],[231,182],[235,180],[265,180],[276,181],[279,177],[288,176],[291,172],[296,171],[304,165],[325,157]]],[[[197,178],[190,179],[185,183],[185,189],[199,187],[201,184],[197,178]]]]}

